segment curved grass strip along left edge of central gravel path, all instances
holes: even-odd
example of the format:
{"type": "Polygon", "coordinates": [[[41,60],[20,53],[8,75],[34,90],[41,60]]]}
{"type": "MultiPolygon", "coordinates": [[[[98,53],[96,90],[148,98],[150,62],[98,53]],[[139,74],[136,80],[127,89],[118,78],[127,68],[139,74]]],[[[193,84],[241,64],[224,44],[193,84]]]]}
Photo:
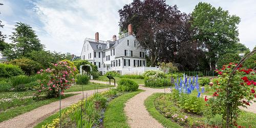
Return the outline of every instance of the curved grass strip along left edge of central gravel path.
{"type": "Polygon", "coordinates": [[[104,114],[104,127],[130,127],[126,122],[126,115],[123,110],[124,105],[127,100],[140,92],[142,90],[126,93],[110,101],[104,114]]]}

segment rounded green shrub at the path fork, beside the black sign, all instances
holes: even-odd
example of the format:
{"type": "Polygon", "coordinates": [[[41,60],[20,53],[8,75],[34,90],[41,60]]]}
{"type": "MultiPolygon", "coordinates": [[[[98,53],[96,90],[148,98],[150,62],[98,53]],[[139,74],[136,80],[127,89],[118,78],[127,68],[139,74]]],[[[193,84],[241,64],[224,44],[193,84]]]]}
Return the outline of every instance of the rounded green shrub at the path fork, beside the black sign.
{"type": "Polygon", "coordinates": [[[137,91],[139,84],[133,80],[122,78],[118,81],[117,90],[119,91],[137,91]]]}

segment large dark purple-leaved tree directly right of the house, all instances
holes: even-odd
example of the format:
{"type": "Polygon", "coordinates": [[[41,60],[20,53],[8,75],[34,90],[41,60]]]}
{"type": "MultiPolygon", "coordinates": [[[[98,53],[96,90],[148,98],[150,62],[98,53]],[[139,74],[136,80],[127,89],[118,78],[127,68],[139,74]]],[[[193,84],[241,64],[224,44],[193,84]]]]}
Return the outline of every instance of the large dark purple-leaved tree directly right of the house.
{"type": "Polygon", "coordinates": [[[156,0],[133,1],[118,12],[121,31],[125,31],[129,24],[133,25],[140,46],[149,52],[151,66],[156,66],[157,60],[173,61],[182,48],[180,44],[187,44],[191,49],[190,17],[181,13],[176,5],[169,6],[165,1],[156,0]]]}

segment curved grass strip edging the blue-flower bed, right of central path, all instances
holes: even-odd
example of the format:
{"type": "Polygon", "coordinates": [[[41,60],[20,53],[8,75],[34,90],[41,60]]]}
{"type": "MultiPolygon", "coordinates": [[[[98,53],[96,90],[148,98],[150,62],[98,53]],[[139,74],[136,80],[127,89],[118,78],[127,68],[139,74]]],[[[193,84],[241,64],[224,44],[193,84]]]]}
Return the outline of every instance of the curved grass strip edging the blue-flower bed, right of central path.
{"type": "Polygon", "coordinates": [[[154,93],[153,95],[146,98],[144,104],[146,106],[147,111],[150,115],[155,118],[158,122],[160,122],[164,127],[181,127],[175,122],[170,121],[169,119],[165,118],[162,114],[160,114],[156,108],[154,101],[157,97],[159,97],[162,93],[154,93]]]}

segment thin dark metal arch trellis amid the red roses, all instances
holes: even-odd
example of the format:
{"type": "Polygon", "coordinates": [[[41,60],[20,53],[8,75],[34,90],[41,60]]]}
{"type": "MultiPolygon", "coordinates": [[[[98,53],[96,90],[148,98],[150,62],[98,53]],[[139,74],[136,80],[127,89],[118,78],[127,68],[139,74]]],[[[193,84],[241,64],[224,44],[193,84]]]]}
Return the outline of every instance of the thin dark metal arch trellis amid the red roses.
{"type": "MultiPolygon", "coordinates": [[[[233,71],[231,72],[231,74],[230,74],[230,76],[229,76],[229,79],[228,79],[228,81],[227,81],[227,87],[226,87],[226,90],[227,90],[227,95],[226,95],[226,98],[228,99],[228,97],[229,97],[229,87],[230,87],[230,84],[229,84],[229,82],[230,82],[230,80],[233,78],[233,75],[234,75],[234,72],[236,72],[236,70],[242,65],[242,63],[246,60],[246,59],[248,59],[250,56],[252,56],[253,54],[255,54],[256,53],[256,49],[255,50],[253,50],[253,51],[251,51],[249,54],[247,54],[246,56],[244,56],[240,61],[239,61],[239,63],[238,63],[238,65],[233,69],[233,71]]],[[[253,69],[255,69],[256,67],[254,67],[253,69]]],[[[229,127],[229,122],[230,122],[230,120],[229,120],[229,117],[230,117],[230,105],[231,103],[227,103],[226,104],[226,109],[227,109],[227,117],[226,117],[226,127],[229,127]]]]}

